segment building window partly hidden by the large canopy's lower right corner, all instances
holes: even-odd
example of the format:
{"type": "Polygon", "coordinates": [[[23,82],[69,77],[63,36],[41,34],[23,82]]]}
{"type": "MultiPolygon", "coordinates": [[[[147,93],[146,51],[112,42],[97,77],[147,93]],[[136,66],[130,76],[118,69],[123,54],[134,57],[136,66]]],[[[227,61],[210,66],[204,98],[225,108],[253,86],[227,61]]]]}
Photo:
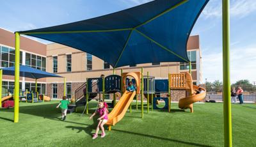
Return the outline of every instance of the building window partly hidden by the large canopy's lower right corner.
{"type": "MultiPolygon", "coordinates": [[[[191,61],[191,69],[196,69],[196,51],[188,51],[188,59],[191,61]]],[[[189,63],[180,62],[180,70],[189,70],[189,63]]]]}

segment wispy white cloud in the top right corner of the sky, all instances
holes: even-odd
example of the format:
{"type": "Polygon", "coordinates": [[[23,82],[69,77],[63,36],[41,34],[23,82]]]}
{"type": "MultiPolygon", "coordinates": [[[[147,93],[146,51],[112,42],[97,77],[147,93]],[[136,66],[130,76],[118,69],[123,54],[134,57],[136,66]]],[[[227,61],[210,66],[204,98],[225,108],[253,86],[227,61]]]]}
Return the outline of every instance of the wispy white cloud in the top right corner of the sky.
{"type": "MultiPolygon", "coordinates": [[[[232,0],[230,1],[230,17],[243,18],[250,13],[256,12],[255,0],[232,0]]],[[[212,0],[205,6],[202,16],[220,18],[222,16],[221,1],[212,0]]]]}

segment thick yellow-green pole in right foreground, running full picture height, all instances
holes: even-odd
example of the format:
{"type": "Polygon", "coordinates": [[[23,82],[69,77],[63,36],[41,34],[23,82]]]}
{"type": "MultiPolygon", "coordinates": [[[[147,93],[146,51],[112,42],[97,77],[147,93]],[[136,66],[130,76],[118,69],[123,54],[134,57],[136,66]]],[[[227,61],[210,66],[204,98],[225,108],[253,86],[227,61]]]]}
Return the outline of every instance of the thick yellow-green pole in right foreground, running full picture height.
{"type": "Polygon", "coordinates": [[[229,58],[229,0],[222,0],[224,146],[232,146],[229,58]]]}

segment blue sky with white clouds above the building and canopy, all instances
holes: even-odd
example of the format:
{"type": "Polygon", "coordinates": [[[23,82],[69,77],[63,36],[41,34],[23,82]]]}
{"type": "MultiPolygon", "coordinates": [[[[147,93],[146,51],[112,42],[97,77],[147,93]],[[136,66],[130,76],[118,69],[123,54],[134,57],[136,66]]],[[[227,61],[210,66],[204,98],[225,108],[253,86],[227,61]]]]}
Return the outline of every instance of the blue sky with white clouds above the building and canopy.
{"type": "MultiPolygon", "coordinates": [[[[0,1],[0,27],[22,31],[117,12],[150,0],[0,1]]],[[[256,1],[230,0],[231,82],[256,82],[256,1]]],[[[210,0],[193,28],[200,35],[202,74],[222,81],[221,0],[210,0]]],[[[40,40],[42,41],[42,40],[40,40]]],[[[45,42],[45,41],[44,41],[45,42]]]]}

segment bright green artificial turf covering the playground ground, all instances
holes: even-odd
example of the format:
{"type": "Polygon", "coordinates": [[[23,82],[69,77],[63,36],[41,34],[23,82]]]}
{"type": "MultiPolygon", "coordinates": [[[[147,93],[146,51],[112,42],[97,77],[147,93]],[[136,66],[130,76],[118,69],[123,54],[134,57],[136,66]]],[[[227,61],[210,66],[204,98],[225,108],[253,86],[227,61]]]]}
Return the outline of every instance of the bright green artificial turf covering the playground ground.
{"type": "MultiPolygon", "coordinates": [[[[19,123],[12,123],[13,109],[0,109],[0,146],[223,146],[221,103],[194,104],[194,113],[180,111],[177,104],[172,112],[147,114],[145,107],[143,119],[134,106],[105,138],[95,140],[95,125],[81,116],[83,107],[61,121],[56,104],[20,103],[19,123]]],[[[91,113],[96,105],[90,102],[91,113]]],[[[256,146],[255,116],[256,104],[232,105],[234,146],[256,146]]]]}

